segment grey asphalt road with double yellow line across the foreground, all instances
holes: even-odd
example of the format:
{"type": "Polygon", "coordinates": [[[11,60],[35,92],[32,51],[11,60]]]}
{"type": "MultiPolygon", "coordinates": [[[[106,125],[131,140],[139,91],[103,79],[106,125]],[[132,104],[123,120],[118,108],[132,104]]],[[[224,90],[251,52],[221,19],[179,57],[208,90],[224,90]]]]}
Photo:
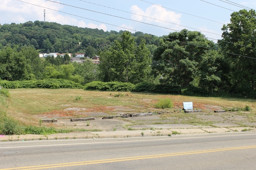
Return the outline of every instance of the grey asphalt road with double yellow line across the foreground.
{"type": "Polygon", "coordinates": [[[0,142],[2,169],[256,169],[256,132],[0,142]]]}

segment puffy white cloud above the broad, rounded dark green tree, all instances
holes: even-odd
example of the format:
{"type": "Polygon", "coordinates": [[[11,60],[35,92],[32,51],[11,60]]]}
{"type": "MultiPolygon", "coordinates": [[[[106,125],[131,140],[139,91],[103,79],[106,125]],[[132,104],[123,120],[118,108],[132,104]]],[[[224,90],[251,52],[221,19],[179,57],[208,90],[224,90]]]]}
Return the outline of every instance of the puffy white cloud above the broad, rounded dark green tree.
{"type": "Polygon", "coordinates": [[[142,17],[142,16],[133,14],[132,15],[133,20],[147,22],[147,23],[155,23],[155,24],[158,24],[161,26],[169,26],[169,25],[173,26],[173,24],[169,24],[169,23],[162,22],[162,21],[180,24],[181,14],[176,14],[175,12],[167,11],[165,8],[158,6],[158,5],[152,5],[152,6],[148,7],[145,11],[140,9],[137,5],[133,5],[130,8],[130,10],[132,11],[132,13],[135,13],[135,14],[158,19],[158,20],[154,20],[154,19],[150,19],[150,18],[146,18],[146,17],[142,17]],[[159,20],[162,20],[162,21],[159,21],[159,20]]]}

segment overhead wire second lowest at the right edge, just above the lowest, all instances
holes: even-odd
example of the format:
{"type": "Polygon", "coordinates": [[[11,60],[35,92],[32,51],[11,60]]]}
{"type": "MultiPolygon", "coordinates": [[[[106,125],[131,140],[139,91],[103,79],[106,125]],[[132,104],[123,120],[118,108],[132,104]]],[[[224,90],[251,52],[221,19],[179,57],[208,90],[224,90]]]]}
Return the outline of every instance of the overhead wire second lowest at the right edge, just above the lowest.
{"type": "MultiPolygon", "coordinates": [[[[106,14],[106,13],[102,13],[102,12],[98,12],[98,11],[93,11],[93,10],[89,10],[89,9],[85,9],[85,8],[81,8],[81,7],[76,7],[76,6],[73,6],[73,5],[68,5],[68,4],[64,4],[64,3],[60,3],[60,2],[55,2],[55,1],[51,1],[51,0],[46,0],[46,1],[54,2],[54,3],[57,3],[57,4],[62,4],[62,5],[78,8],[78,9],[83,9],[83,10],[87,10],[87,11],[91,11],[91,12],[96,12],[96,13],[100,13],[100,14],[104,14],[104,15],[109,15],[109,16],[112,16],[112,17],[117,17],[117,18],[121,18],[121,19],[125,19],[125,20],[135,21],[135,22],[139,22],[139,23],[143,23],[143,24],[147,24],[147,25],[151,25],[151,26],[155,26],[155,27],[159,27],[159,28],[164,28],[164,29],[168,29],[168,30],[172,30],[172,31],[185,33],[185,32],[182,32],[182,31],[171,29],[171,28],[166,28],[166,27],[162,27],[162,26],[158,26],[158,25],[154,25],[154,24],[149,24],[149,23],[145,23],[145,22],[141,22],[141,21],[136,21],[136,20],[132,20],[132,19],[128,19],[128,18],[123,18],[123,17],[119,17],[119,16],[115,16],[115,15],[110,15],[110,14],[106,14]]],[[[203,36],[198,36],[198,37],[203,37],[203,36]]],[[[205,37],[205,38],[212,39],[212,40],[217,40],[217,39],[213,39],[213,38],[209,38],[209,37],[205,37]]],[[[224,41],[224,40],[217,40],[217,41],[227,42],[227,41],[224,41]]],[[[227,43],[235,44],[233,42],[227,42],[227,43]]],[[[249,47],[249,48],[254,48],[254,47],[250,47],[250,46],[247,46],[247,45],[241,45],[241,44],[236,44],[236,45],[249,47]]],[[[256,48],[254,48],[254,49],[256,49],[256,48]]]]}

